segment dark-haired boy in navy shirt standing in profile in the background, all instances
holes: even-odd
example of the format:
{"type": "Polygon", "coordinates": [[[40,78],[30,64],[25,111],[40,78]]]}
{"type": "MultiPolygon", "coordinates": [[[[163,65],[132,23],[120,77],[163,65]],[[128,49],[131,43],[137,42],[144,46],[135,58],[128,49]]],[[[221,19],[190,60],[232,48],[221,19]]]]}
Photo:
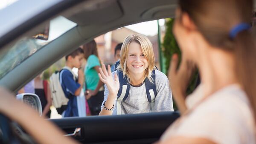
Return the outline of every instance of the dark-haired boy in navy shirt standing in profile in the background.
{"type": "MultiPolygon", "coordinates": [[[[83,60],[83,50],[81,48],[76,49],[74,52],[66,55],[66,66],[60,71],[60,84],[64,91],[66,98],[69,99],[67,103],[67,109],[62,113],[63,117],[79,116],[80,99],[79,96],[84,94],[82,88],[84,83],[84,73],[80,69],[83,60]],[[75,74],[72,69],[78,68],[78,78],[74,79],[75,74]]],[[[85,103],[85,99],[83,101],[85,103]]],[[[85,115],[85,106],[83,107],[85,115]]]]}

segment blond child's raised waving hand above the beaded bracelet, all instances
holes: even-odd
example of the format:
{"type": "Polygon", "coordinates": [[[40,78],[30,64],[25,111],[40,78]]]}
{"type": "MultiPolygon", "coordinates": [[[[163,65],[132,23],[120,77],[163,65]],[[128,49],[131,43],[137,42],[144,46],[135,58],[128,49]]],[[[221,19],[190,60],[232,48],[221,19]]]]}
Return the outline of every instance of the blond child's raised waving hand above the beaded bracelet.
{"type": "Polygon", "coordinates": [[[117,74],[114,75],[113,79],[110,65],[108,65],[107,71],[104,64],[102,68],[99,68],[99,72],[99,79],[108,87],[109,96],[116,96],[119,90],[119,80],[117,74]]]}

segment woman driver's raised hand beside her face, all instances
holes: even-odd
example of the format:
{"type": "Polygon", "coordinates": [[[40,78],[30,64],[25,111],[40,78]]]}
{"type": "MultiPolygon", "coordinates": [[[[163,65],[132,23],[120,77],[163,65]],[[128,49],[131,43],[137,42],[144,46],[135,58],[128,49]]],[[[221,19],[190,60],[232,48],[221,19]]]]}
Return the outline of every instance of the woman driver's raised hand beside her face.
{"type": "Polygon", "coordinates": [[[172,89],[172,95],[177,103],[180,113],[183,114],[186,111],[186,89],[195,70],[195,64],[186,57],[182,57],[179,69],[177,69],[177,64],[178,56],[177,54],[174,54],[170,62],[168,78],[172,89]]]}

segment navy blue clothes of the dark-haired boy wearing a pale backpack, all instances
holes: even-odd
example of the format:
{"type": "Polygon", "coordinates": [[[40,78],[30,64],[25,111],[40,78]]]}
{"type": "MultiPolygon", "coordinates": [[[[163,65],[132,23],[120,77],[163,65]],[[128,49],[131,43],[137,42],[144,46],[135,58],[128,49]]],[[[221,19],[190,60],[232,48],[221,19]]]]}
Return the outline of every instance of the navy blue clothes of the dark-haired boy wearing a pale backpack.
{"type": "Polygon", "coordinates": [[[73,74],[67,69],[61,70],[60,83],[65,96],[69,99],[64,117],[79,116],[77,100],[74,93],[81,85],[74,80],[73,74]]]}

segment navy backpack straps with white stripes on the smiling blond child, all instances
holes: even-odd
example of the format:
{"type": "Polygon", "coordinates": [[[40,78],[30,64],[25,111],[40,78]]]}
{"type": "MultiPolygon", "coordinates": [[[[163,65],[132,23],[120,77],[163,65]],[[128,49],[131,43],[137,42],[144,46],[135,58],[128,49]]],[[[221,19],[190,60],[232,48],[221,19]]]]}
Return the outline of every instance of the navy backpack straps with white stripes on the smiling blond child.
{"type": "MultiPolygon", "coordinates": [[[[125,75],[125,78],[123,77],[123,72],[119,69],[117,69],[117,66],[119,65],[120,61],[116,61],[114,71],[117,70],[117,75],[119,79],[119,90],[117,93],[117,105],[116,105],[116,114],[121,114],[121,103],[122,101],[125,101],[126,98],[128,98],[129,91],[130,91],[130,84],[128,83],[128,78],[125,75]]],[[[157,67],[155,66],[157,69],[157,67]]],[[[154,99],[157,96],[157,87],[156,87],[156,75],[155,75],[155,69],[152,71],[152,79],[153,83],[149,81],[148,78],[145,79],[145,87],[146,87],[146,94],[148,98],[148,102],[151,103],[151,109],[154,106],[154,99]]]]}

